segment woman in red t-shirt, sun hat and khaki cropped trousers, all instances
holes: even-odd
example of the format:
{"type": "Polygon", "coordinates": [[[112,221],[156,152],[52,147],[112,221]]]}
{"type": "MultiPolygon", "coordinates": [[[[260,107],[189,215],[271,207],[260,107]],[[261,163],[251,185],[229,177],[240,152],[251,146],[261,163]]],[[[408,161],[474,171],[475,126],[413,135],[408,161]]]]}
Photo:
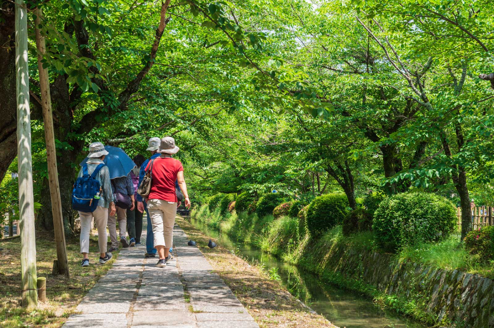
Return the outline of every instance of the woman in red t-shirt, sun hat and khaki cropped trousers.
{"type": "Polygon", "coordinates": [[[153,225],[154,246],[158,250],[160,260],[157,267],[165,267],[171,258],[170,247],[173,246],[173,225],[177,214],[177,196],[175,180],[178,180],[180,190],[184,195],[185,206],[190,207],[187,185],[184,180],[184,168],[180,161],[171,157],[179,148],[175,146],[175,139],[165,137],[161,139],[159,158],[149,162],[146,171],[152,166],[152,185],[148,196],[148,211],[153,225]]]}

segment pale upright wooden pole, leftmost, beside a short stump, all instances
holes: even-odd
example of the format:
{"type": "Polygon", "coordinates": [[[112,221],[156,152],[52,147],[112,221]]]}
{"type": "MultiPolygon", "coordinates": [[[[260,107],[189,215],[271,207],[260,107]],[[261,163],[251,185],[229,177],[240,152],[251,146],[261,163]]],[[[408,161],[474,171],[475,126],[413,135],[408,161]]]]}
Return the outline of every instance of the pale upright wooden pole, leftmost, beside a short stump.
{"type": "Polygon", "coordinates": [[[15,0],[15,66],[22,306],[33,307],[38,305],[38,289],[36,287],[36,238],[29,112],[28,20],[26,3],[23,0],[15,0]]]}

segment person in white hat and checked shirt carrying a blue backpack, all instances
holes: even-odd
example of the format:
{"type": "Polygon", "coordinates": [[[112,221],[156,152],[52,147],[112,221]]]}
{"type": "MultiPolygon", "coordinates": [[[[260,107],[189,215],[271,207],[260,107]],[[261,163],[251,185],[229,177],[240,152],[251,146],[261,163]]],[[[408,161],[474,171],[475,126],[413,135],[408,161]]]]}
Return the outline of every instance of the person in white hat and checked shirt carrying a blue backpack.
{"type": "Polygon", "coordinates": [[[110,182],[110,171],[103,162],[108,152],[101,142],[89,145],[88,160],[82,165],[72,191],[72,207],[79,211],[81,217],[81,266],[89,265],[89,235],[91,221],[94,217],[98,229],[99,263],[106,263],[112,258],[107,252],[108,214],[115,215],[116,207],[110,182]]]}

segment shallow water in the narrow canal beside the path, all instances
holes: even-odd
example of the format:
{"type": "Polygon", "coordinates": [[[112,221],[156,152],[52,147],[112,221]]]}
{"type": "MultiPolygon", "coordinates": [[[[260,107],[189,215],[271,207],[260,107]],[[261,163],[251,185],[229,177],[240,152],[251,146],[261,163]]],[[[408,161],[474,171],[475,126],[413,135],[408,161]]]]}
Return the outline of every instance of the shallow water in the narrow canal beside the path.
{"type": "Polygon", "coordinates": [[[317,276],[285,263],[259,249],[237,243],[226,234],[207,227],[204,222],[191,222],[207,236],[217,239],[218,244],[232,249],[248,260],[264,263],[266,269],[278,268],[282,284],[314,311],[325,316],[331,323],[346,328],[424,328],[396,314],[382,311],[370,300],[348,290],[322,283],[317,276]]]}

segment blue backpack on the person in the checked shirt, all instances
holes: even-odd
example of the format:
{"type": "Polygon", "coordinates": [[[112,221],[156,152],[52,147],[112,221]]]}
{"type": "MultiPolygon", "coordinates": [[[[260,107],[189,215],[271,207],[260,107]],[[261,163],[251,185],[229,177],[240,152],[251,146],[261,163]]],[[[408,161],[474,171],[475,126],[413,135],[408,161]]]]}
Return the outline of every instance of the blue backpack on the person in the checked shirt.
{"type": "Polygon", "coordinates": [[[94,198],[98,192],[101,192],[101,186],[96,175],[105,164],[99,164],[91,175],[87,171],[87,164],[82,166],[82,177],[77,178],[72,190],[72,208],[75,210],[91,213],[96,210],[99,198],[94,198]]]}

